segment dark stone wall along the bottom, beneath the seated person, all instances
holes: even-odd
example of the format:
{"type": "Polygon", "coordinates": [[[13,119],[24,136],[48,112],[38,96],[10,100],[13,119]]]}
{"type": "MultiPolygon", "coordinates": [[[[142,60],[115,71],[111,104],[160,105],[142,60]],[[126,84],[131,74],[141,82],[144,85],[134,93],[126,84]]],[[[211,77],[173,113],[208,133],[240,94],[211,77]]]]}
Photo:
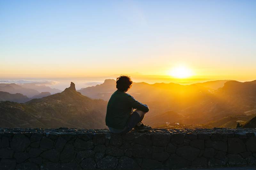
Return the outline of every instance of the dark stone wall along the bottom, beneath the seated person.
{"type": "Polygon", "coordinates": [[[0,169],[177,169],[256,166],[256,129],[0,128],[0,169]]]}

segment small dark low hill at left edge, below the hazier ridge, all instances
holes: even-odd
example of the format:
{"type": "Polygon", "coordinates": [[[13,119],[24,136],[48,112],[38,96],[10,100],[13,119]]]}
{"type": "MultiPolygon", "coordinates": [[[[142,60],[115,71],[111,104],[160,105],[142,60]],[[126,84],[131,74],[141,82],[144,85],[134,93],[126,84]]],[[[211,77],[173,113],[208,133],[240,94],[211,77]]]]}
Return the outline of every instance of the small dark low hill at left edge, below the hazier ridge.
{"type": "Polygon", "coordinates": [[[8,92],[0,91],[0,101],[14,101],[18,103],[25,103],[28,100],[30,99],[27,96],[24,96],[23,94],[20,94],[20,93],[11,94],[8,92]]]}

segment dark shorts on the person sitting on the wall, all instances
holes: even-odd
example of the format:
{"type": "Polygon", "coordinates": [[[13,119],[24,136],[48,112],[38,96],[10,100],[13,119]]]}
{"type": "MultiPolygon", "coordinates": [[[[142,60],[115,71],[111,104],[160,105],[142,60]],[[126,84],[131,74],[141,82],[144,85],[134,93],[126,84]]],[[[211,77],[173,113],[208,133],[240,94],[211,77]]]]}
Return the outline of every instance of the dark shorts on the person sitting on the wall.
{"type": "Polygon", "coordinates": [[[144,116],[145,116],[145,114],[140,117],[140,115],[137,112],[133,112],[126,122],[126,129],[124,129],[124,131],[122,131],[120,134],[124,135],[124,134],[128,133],[130,130],[132,130],[132,128],[137,123],[142,122],[142,120],[144,119],[144,116]]]}

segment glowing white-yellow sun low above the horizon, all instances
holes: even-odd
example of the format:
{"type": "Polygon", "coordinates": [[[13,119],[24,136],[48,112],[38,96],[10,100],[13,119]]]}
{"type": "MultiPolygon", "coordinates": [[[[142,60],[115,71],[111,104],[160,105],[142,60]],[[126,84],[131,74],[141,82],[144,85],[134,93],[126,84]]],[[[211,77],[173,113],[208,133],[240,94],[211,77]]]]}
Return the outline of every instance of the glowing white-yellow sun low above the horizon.
{"type": "Polygon", "coordinates": [[[188,78],[193,75],[193,72],[185,66],[179,66],[170,70],[168,75],[175,78],[188,78]]]}

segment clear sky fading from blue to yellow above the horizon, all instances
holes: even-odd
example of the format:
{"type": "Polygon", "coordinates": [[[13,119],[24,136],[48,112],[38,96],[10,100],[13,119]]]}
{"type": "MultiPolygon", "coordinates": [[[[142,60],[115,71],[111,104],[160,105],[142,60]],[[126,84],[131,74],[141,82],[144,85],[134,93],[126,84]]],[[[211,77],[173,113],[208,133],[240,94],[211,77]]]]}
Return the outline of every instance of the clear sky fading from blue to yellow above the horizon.
{"type": "Polygon", "coordinates": [[[256,79],[256,1],[0,1],[0,78],[256,79]]]}

